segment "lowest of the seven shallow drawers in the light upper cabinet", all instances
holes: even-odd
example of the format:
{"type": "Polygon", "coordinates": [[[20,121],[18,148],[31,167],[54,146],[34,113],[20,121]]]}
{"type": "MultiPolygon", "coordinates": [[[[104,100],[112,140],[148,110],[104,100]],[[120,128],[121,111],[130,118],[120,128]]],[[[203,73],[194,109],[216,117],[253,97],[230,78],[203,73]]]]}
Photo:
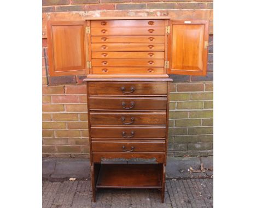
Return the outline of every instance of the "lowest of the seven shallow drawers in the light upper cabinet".
{"type": "Polygon", "coordinates": [[[160,75],[164,74],[164,68],[156,67],[92,67],[92,74],[153,74],[160,75]]]}

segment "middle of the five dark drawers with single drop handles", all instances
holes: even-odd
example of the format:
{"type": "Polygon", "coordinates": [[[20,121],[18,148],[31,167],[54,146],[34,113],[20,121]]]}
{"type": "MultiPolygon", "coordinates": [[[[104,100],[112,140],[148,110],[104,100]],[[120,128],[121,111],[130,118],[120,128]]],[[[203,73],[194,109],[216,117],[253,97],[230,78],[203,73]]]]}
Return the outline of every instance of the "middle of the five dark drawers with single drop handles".
{"type": "Polygon", "coordinates": [[[166,124],[166,112],[90,112],[94,124],[166,124]]]}

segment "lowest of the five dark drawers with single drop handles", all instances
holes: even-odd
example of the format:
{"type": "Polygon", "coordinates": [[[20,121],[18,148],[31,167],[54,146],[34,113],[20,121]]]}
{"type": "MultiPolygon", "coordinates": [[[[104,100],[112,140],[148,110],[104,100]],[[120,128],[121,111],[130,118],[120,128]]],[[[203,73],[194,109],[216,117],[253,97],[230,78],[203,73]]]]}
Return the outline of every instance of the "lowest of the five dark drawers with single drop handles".
{"type": "Polygon", "coordinates": [[[165,140],[92,141],[96,152],[164,152],[165,140]]]}

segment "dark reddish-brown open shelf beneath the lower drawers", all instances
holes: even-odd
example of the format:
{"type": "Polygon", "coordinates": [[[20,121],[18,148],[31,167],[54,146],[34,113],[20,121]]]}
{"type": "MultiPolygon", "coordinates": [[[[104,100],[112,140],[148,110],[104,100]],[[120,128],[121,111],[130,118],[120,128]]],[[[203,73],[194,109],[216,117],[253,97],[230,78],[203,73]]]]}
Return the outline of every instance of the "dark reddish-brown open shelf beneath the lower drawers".
{"type": "Polygon", "coordinates": [[[159,164],[101,164],[96,188],[162,188],[159,164]]]}

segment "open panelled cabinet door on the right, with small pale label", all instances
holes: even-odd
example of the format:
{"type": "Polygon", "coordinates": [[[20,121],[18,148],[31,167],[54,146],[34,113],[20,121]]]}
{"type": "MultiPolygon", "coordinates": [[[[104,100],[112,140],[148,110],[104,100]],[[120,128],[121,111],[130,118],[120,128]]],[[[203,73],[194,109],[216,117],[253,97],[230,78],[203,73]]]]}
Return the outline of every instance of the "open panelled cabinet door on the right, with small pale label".
{"type": "Polygon", "coordinates": [[[167,74],[206,76],[208,21],[171,20],[167,74]]]}

